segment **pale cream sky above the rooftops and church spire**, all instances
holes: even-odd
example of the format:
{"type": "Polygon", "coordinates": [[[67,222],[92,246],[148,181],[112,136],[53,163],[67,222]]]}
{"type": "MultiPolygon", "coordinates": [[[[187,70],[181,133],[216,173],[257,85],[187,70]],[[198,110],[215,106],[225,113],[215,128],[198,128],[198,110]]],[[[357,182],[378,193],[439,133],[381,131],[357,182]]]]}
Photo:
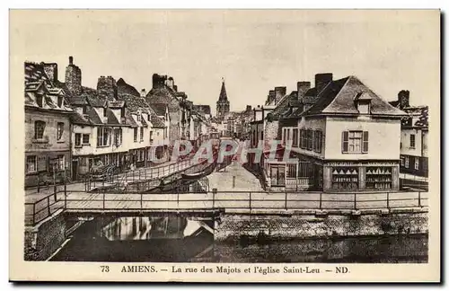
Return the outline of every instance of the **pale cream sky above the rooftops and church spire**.
{"type": "Polygon", "coordinates": [[[12,64],[68,57],[83,85],[100,75],[151,89],[154,73],[216,111],[222,77],[231,110],[262,105],[275,86],[295,90],[317,73],[357,75],[383,99],[439,98],[437,11],[13,11],[12,64]]]}

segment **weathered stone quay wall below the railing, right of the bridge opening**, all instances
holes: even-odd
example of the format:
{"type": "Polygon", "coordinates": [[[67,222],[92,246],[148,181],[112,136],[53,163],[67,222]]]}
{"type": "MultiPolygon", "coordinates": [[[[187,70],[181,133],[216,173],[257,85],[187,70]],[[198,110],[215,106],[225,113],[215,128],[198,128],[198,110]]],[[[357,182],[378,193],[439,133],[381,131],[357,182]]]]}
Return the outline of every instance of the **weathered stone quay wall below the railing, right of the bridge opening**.
{"type": "Polygon", "coordinates": [[[282,213],[224,214],[216,225],[216,242],[244,237],[265,239],[356,237],[383,234],[427,234],[427,208],[282,213]]]}

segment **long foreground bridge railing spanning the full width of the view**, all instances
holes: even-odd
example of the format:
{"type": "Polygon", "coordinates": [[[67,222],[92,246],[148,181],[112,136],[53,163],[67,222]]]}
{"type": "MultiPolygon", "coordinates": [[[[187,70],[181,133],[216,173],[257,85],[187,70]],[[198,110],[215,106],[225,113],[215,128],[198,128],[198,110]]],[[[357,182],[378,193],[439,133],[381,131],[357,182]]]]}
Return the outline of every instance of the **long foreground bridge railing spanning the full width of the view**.
{"type": "Polygon", "coordinates": [[[266,210],[361,210],[427,207],[428,192],[277,192],[208,191],[206,193],[87,193],[57,192],[25,204],[26,225],[36,225],[59,209],[75,212],[266,210]]]}

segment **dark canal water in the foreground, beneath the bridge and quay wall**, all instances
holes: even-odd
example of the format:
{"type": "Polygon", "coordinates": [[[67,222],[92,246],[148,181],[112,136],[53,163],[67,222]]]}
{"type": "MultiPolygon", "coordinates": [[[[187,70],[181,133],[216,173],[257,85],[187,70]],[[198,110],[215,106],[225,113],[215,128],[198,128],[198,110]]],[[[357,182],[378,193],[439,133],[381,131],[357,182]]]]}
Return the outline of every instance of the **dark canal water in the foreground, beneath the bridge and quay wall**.
{"type": "Polygon", "coordinates": [[[179,216],[97,218],[50,260],[121,262],[427,262],[427,235],[214,242],[213,223],[179,216]]]}

